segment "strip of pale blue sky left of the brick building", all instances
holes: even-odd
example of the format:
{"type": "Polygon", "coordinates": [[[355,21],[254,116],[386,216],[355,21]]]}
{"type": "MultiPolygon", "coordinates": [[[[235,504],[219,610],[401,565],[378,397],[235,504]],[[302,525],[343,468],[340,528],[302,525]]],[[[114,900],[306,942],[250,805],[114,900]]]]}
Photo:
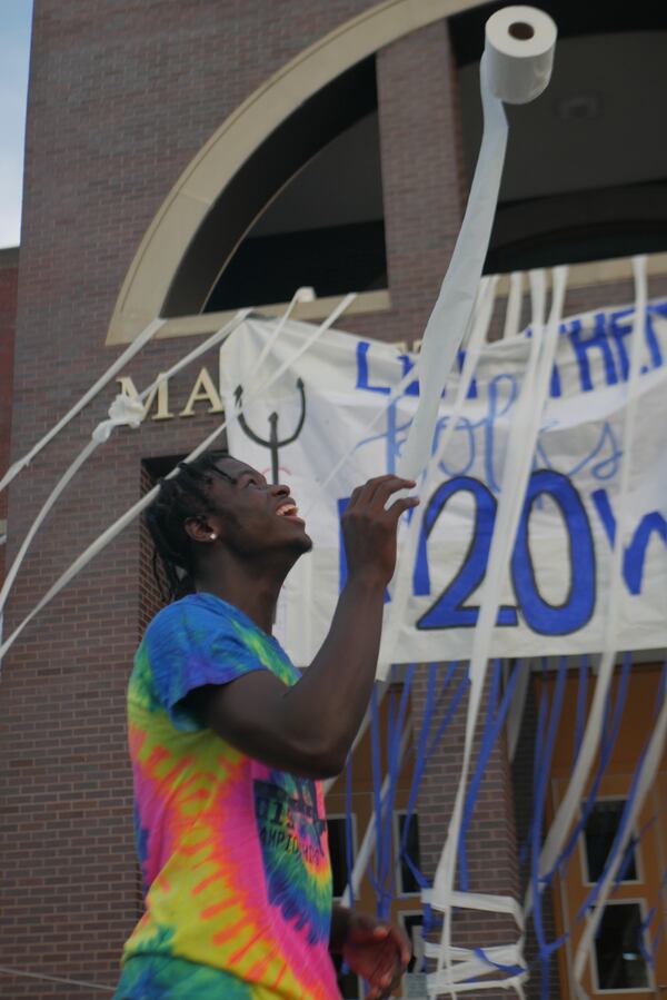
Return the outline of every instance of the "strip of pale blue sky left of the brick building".
{"type": "Polygon", "coordinates": [[[0,0],[0,248],[20,241],[32,0],[0,0]]]}

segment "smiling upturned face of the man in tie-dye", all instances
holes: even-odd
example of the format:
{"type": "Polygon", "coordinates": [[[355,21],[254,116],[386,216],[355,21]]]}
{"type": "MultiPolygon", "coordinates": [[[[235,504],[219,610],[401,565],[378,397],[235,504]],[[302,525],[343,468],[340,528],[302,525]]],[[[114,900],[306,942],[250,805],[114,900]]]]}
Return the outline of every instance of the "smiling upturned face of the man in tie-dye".
{"type": "Polygon", "coordinates": [[[217,467],[221,475],[212,476],[207,522],[229,548],[245,555],[280,548],[301,555],[312,548],[289,486],[269,485],[236,458],[221,458],[217,467]]]}

